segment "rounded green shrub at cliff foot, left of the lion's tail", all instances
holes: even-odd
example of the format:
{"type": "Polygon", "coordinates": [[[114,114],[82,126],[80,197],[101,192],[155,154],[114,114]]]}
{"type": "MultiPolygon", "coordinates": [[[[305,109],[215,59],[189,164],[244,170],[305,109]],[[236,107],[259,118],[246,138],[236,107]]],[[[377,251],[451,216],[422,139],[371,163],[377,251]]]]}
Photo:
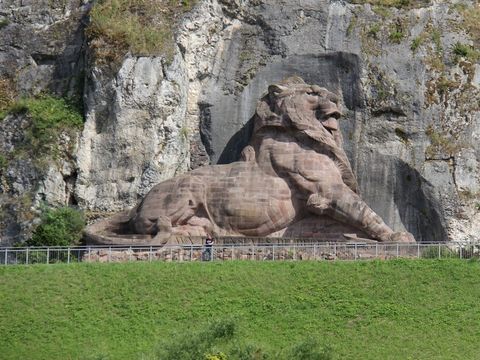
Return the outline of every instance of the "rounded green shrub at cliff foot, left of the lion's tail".
{"type": "Polygon", "coordinates": [[[85,227],[83,212],[71,207],[46,209],[28,246],[69,246],[77,244],[85,227]]]}

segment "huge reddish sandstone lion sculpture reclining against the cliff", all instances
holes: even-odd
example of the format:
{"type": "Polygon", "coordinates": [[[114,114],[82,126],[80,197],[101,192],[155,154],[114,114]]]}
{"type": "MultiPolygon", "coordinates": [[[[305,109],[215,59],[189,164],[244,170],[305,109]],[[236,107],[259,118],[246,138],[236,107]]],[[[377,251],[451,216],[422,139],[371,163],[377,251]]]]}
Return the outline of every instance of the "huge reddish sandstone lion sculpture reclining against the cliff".
{"type": "Polygon", "coordinates": [[[358,195],[340,116],[337,96],[322,87],[298,77],[271,85],[258,102],[240,161],[154,186],[132,210],[88,227],[87,240],[161,244],[172,235],[322,238],[323,232],[355,232],[378,241],[414,241],[410,233],[392,231],[358,195]]]}

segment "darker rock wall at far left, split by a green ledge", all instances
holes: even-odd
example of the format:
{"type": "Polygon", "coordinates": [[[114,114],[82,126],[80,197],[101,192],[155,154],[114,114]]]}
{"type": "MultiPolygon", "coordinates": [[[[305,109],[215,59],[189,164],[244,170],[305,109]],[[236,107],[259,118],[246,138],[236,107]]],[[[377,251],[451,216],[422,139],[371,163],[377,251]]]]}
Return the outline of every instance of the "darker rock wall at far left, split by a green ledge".
{"type": "MultiPolygon", "coordinates": [[[[83,0],[0,2],[0,105],[40,93],[81,99],[89,8],[83,0]]],[[[78,133],[61,134],[53,159],[29,151],[30,126],[24,113],[0,119],[0,245],[27,239],[41,204],[75,203],[78,133]]]]}

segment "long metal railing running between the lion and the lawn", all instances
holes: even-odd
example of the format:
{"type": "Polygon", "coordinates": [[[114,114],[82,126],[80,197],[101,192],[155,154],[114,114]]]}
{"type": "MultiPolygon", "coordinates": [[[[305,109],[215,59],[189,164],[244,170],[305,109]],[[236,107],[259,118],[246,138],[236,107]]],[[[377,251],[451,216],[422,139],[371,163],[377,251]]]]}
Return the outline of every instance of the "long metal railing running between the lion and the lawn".
{"type": "Polygon", "coordinates": [[[4,247],[0,264],[127,261],[373,260],[480,258],[480,243],[290,243],[165,246],[4,247]]]}

